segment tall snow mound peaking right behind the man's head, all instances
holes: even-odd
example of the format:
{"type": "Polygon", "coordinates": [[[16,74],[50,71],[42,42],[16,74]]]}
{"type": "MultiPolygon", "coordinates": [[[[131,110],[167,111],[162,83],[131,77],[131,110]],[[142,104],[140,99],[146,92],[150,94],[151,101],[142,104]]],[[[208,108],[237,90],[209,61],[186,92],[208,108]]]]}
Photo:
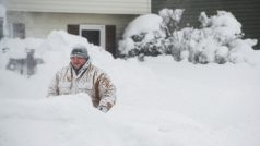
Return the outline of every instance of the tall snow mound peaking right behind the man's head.
{"type": "Polygon", "coordinates": [[[83,37],[71,35],[63,31],[51,32],[40,45],[38,51],[42,52],[44,60],[47,62],[57,63],[58,61],[60,63],[68,63],[72,48],[79,45],[87,48],[91,59],[94,62],[98,63],[99,58],[107,61],[113,59],[113,56],[103,48],[88,44],[83,37]],[[54,60],[52,58],[57,59],[54,60]]]}

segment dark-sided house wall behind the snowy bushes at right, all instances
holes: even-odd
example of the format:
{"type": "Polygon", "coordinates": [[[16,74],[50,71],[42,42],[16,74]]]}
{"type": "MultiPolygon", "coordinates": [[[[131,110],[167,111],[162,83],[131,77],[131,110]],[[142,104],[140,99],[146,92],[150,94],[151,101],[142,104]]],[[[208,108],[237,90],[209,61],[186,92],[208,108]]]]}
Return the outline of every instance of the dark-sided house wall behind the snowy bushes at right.
{"type": "MultiPolygon", "coordinates": [[[[216,14],[217,10],[232,12],[241,23],[245,38],[256,38],[260,41],[260,1],[259,0],[152,0],[152,13],[158,13],[159,10],[185,9],[180,27],[199,27],[198,17],[200,12],[208,15],[216,14]]],[[[256,46],[260,49],[260,42],[256,46]]]]}

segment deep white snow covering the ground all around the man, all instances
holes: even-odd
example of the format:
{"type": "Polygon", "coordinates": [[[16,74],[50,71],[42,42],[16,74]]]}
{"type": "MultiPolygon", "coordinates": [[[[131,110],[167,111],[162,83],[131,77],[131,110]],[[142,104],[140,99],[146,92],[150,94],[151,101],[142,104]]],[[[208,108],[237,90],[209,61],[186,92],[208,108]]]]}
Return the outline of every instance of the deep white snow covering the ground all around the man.
{"type": "Polygon", "coordinates": [[[48,50],[52,60],[31,78],[0,69],[0,146],[260,145],[260,63],[90,53],[117,86],[111,111],[94,109],[84,94],[46,98],[54,73],[69,61],[66,52],[48,50]]]}

